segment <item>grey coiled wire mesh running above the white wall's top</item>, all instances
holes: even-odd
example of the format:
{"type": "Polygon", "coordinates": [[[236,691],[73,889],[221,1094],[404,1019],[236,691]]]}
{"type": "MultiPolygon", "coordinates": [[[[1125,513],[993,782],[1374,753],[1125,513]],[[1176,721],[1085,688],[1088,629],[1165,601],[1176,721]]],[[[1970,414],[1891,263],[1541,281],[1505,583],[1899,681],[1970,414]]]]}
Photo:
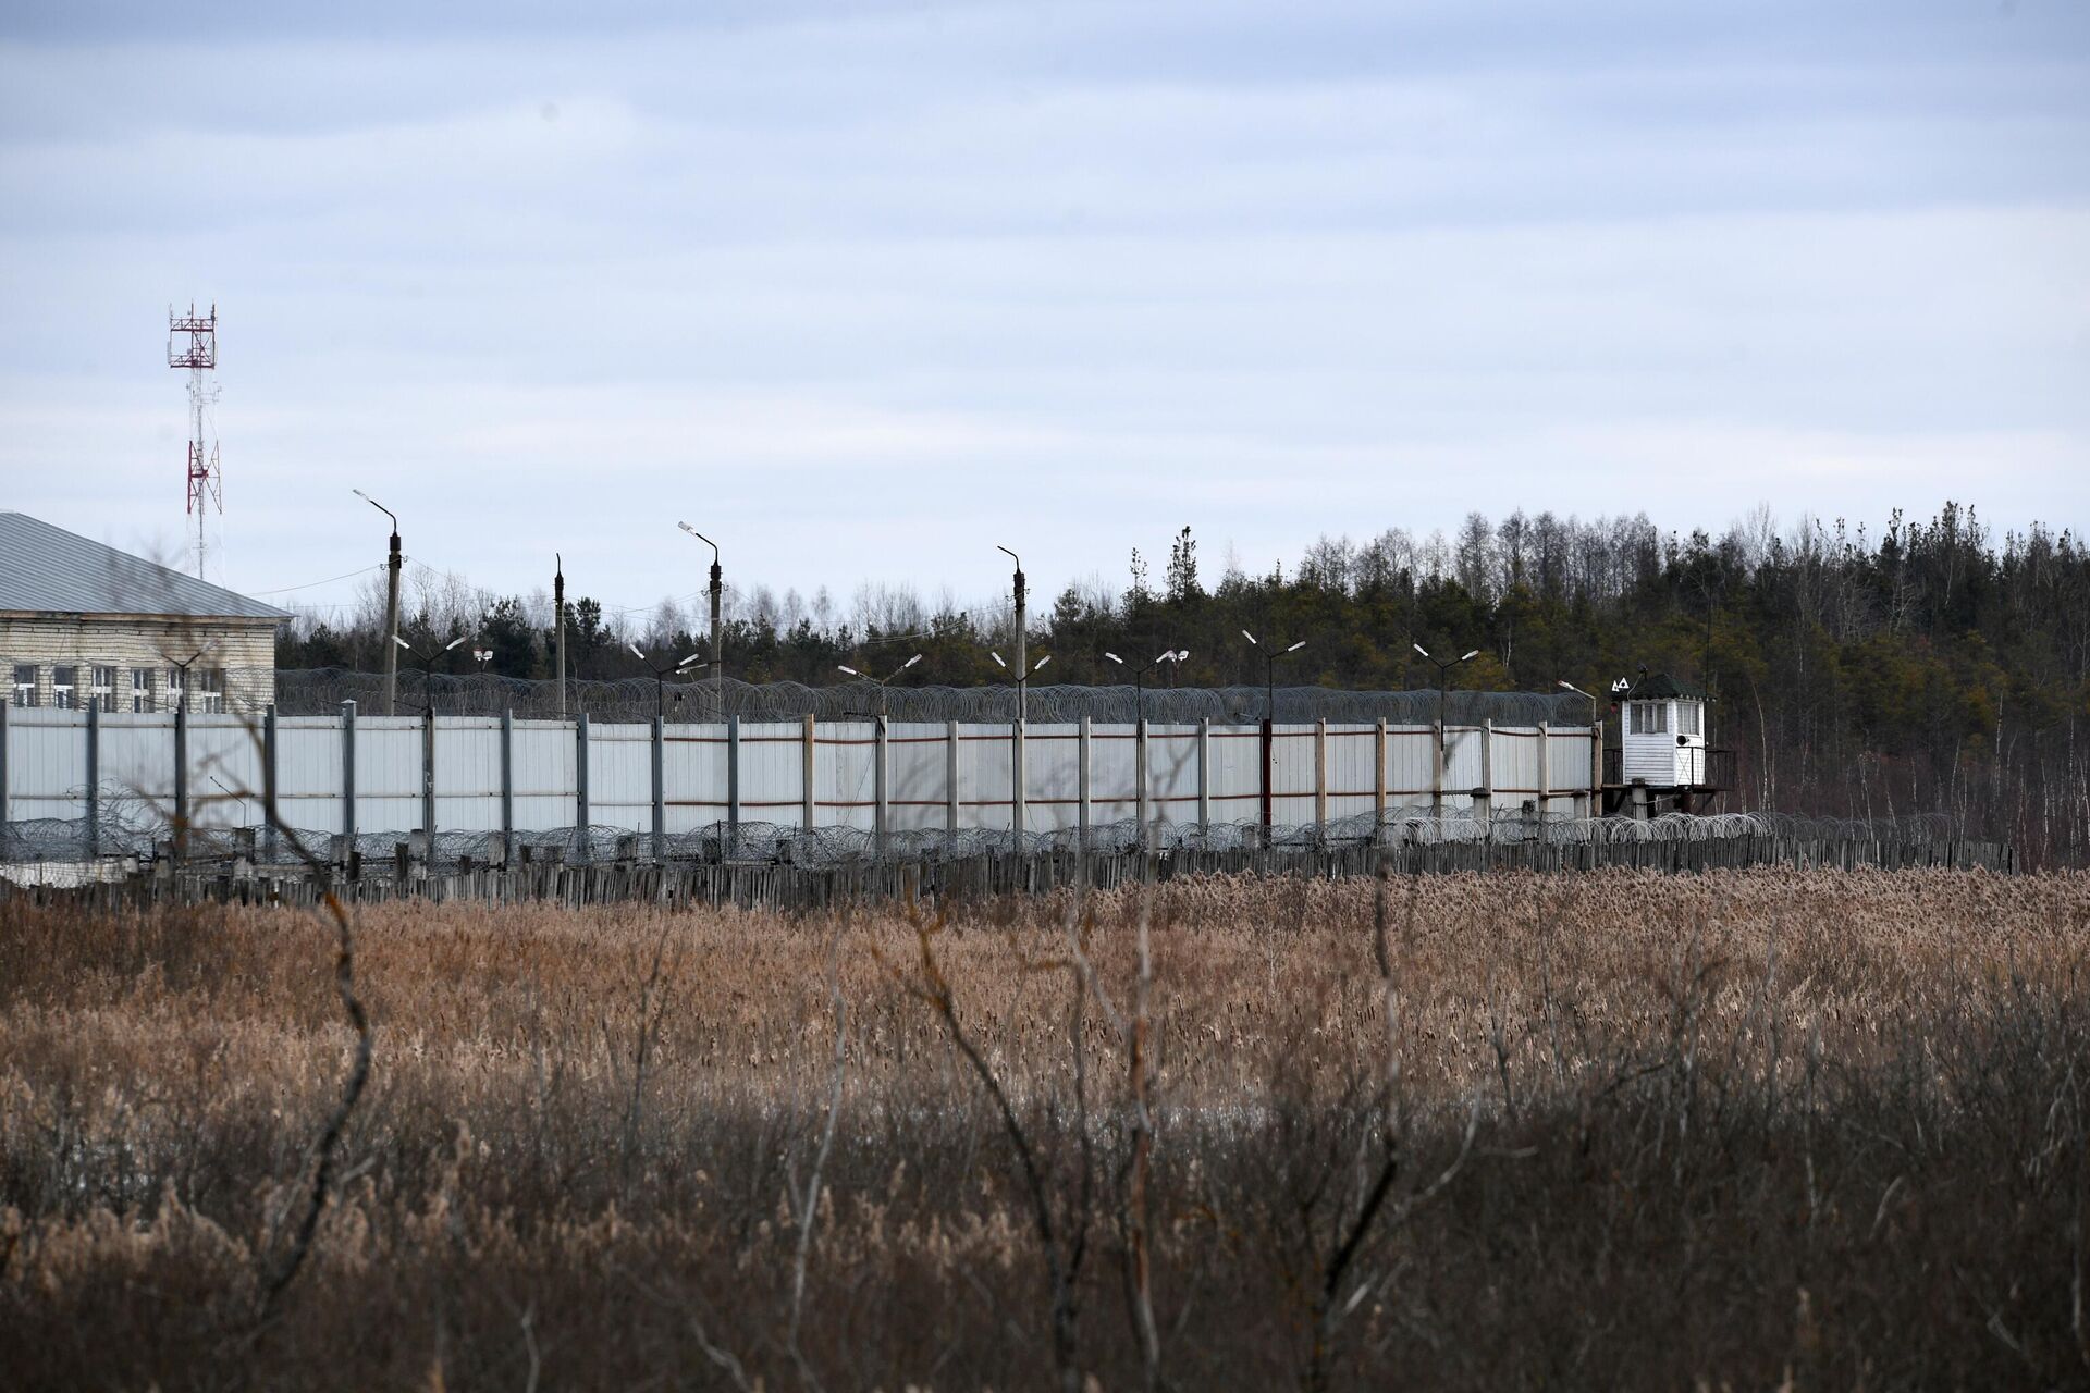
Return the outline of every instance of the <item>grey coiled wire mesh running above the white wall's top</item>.
{"type": "MultiPolygon", "coordinates": [[[[240,672],[265,681],[268,670],[240,672]]],[[[330,716],[343,702],[355,702],[366,714],[385,702],[382,672],[351,672],[345,668],[305,668],[274,672],[276,710],[284,716],[330,716]]],[[[497,716],[514,712],[525,718],[560,714],[560,683],[489,672],[420,672],[401,670],[397,710],[420,712],[431,706],[451,716],[497,716]]],[[[1427,725],[1442,716],[1450,725],[1586,725],[1588,700],[1570,691],[1338,691],[1333,687],[1277,687],[1275,721],[1388,721],[1394,725],[1427,725]]],[[[1039,725],[1072,723],[1083,716],[1097,723],[1248,725],[1262,721],[1271,708],[1264,687],[1072,687],[1032,685],[1024,714],[1039,725]]],[[[587,712],[591,721],[851,721],[884,714],[890,721],[966,721],[1003,723],[1016,718],[1014,687],[878,687],[874,683],[836,683],[807,687],[805,683],[725,681],[656,681],[627,677],[614,681],[566,681],[564,714],[587,712]]]]}

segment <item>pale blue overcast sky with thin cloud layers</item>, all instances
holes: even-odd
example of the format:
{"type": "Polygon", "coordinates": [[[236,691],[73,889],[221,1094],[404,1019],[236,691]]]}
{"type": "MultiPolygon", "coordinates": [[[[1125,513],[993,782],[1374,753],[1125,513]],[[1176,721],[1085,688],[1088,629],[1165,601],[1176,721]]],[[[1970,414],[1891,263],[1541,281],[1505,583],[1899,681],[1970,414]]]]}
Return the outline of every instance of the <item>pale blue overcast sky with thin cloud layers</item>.
{"type": "Polygon", "coordinates": [[[2090,522],[2080,0],[278,8],[0,13],[0,505],[178,556],[215,301],[251,593],[2090,522]]]}

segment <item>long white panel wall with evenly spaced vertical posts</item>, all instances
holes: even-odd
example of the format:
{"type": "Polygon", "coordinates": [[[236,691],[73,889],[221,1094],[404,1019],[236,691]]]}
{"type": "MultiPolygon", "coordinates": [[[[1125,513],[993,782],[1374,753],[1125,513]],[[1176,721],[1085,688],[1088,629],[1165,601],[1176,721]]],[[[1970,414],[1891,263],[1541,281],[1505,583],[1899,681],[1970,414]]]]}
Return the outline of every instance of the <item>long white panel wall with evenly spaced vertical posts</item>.
{"type": "MultiPolygon", "coordinates": [[[[529,833],[1325,825],[1430,808],[1586,817],[1588,727],[247,718],[0,708],[0,821],[529,833]]],[[[98,842],[96,842],[98,844],[98,842]]]]}

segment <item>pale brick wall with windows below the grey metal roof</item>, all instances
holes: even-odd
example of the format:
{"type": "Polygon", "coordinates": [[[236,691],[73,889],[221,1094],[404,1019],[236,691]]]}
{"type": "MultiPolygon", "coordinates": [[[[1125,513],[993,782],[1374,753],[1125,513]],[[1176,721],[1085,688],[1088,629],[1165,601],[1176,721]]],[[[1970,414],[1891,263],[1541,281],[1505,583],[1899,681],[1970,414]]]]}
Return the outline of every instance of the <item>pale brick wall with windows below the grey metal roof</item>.
{"type": "MultiPolygon", "coordinates": [[[[36,704],[56,700],[52,675],[61,666],[77,668],[75,702],[84,708],[94,687],[94,668],[115,668],[115,710],[132,708],[132,670],[150,672],[153,710],[173,710],[169,695],[169,658],[188,658],[215,639],[217,647],[192,668],[190,681],[203,668],[226,672],[226,708],[261,710],[276,700],[276,624],[274,620],[159,620],[159,618],[77,618],[77,616],[0,616],[0,700],[15,700],[15,666],[36,666],[36,704]]],[[[196,706],[190,706],[196,710],[196,706]]]]}

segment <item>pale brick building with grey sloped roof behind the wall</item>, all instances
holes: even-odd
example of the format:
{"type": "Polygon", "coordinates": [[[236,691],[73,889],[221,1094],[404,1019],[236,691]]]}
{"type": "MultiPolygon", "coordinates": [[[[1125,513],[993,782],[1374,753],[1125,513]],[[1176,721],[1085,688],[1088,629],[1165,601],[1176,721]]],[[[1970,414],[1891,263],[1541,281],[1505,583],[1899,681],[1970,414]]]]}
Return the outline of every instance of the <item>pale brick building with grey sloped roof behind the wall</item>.
{"type": "Polygon", "coordinates": [[[288,614],[180,570],[0,512],[0,679],[8,706],[259,710],[288,614]],[[184,683],[186,677],[186,683],[184,683]]]}

